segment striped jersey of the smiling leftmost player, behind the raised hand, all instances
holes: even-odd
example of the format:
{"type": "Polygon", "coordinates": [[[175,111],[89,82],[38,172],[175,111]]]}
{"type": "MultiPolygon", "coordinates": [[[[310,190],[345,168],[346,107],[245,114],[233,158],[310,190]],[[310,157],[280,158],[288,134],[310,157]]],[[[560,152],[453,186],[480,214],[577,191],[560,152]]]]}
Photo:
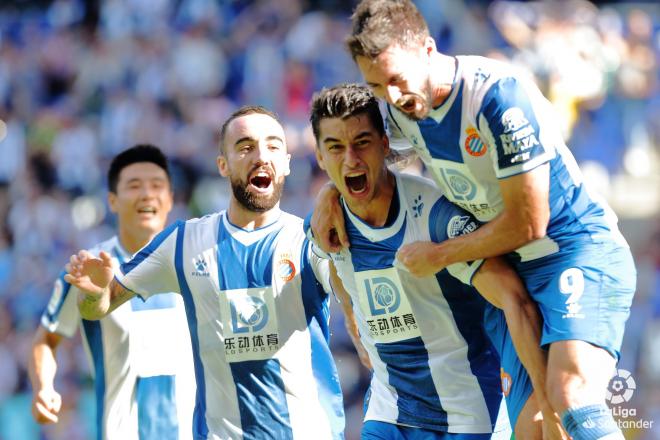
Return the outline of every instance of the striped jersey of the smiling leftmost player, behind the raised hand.
{"type": "MultiPolygon", "coordinates": [[[[94,255],[101,251],[112,255],[117,271],[130,258],[117,237],[90,249],[94,255]]],[[[80,326],[94,375],[97,438],[192,438],[195,377],[179,295],[134,298],[99,321],[87,321],[78,312],[77,288],[64,274],[41,323],[66,337],[80,326]]]]}

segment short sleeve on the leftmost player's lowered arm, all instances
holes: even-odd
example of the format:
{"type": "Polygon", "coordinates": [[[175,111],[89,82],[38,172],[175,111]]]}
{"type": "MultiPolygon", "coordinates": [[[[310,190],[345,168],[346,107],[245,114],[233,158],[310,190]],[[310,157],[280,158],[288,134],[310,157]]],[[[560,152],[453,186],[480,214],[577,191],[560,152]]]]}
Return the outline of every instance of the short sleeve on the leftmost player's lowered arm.
{"type": "Polygon", "coordinates": [[[41,315],[41,325],[50,333],[72,337],[80,322],[78,312],[78,289],[64,281],[62,271],[53,283],[53,290],[46,310],[41,315]]]}

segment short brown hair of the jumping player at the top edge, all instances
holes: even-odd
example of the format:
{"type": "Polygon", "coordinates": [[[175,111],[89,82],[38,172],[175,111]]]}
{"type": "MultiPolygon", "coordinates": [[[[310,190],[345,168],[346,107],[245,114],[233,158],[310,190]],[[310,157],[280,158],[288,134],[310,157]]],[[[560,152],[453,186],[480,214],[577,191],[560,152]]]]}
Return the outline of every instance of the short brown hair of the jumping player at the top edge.
{"type": "Polygon", "coordinates": [[[374,59],[392,44],[421,44],[430,34],[424,17],[410,0],[362,0],[351,16],[346,46],[353,59],[374,59]]]}

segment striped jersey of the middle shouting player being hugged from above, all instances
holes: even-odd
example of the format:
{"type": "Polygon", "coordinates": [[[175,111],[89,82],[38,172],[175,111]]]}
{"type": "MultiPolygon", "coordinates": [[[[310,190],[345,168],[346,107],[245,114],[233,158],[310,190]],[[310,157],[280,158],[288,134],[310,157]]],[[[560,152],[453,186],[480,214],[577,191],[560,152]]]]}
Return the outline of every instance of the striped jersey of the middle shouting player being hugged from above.
{"type": "Polygon", "coordinates": [[[477,222],[431,181],[395,176],[395,220],[372,227],[344,204],[351,246],[330,256],[374,368],[365,421],[508,438],[499,358],[483,327],[485,300],[469,286],[481,261],[424,278],[395,261],[402,245],[444,241],[474,231],[477,222]]]}

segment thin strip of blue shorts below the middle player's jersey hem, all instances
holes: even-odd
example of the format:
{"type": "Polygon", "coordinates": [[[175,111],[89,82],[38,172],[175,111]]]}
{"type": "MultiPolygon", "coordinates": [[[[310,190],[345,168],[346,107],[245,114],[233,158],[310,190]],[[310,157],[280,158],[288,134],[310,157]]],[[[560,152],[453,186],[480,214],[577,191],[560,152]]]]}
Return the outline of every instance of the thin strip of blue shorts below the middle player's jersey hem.
{"type": "Polygon", "coordinates": [[[367,420],[362,425],[360,438],[362,440],[508,440],[510,436],[508,430],[496,434],[453,434],[367,420]]]}

